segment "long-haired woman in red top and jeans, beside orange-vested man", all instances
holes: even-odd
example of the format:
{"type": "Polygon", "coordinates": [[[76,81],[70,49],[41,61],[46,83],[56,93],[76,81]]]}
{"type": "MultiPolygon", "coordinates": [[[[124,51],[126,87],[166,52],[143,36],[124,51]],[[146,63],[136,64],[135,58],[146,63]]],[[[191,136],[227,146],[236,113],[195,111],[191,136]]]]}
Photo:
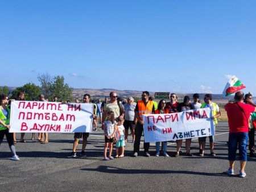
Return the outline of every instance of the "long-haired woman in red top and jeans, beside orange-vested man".
{"type": "MultiPolygon", "coordinates": [[[[168,114],[169,110],[166,108],[166,100],[162,99],[158,103],[158,109],[155,110],[155,114],[168,114]]],[[[163,156],[164,157],[169,157],[167,154],[167,141],[162,142],[162,147],[163,147],[163,156]]],[[[156,157],[159,157],[160,155],[160,142],[155,143],[155,150],[156,150],[156,157]]]]}

